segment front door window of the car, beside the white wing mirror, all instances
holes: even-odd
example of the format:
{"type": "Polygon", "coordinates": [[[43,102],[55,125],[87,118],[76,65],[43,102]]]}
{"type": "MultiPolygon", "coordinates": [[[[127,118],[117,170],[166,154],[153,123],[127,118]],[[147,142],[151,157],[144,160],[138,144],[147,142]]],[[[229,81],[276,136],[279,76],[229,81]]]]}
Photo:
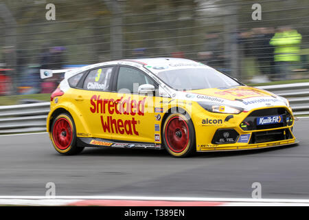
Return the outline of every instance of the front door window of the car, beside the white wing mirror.
{"type": "Polygon", "coordinates": [[[140,70],[130,67],[119,68],[117,91],[121,89],[124,92],[137,93],[138,87],[143,84],[150,84],[157,87],[155,82],[140,70]]]}

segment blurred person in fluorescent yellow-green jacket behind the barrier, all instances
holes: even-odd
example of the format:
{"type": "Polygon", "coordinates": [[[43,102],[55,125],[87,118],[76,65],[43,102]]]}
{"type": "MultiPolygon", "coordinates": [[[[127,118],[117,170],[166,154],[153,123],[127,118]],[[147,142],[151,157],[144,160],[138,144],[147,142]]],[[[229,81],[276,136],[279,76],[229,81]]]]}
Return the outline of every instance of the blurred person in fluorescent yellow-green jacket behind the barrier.
{"type": "Polygon", "coordinates": [[[275,47],[276,73],[282,79],[290,79],[295,64],[300,61],[301,34],[290,27],[282,27],[269,44],[275,47]]]}

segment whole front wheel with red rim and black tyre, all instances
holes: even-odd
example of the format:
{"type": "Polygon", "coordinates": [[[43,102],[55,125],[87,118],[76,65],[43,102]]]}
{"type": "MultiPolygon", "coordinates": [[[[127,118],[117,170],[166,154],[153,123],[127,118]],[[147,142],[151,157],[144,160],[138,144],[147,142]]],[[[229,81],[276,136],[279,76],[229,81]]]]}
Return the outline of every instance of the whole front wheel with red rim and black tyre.
{"type": "Polygon", "coordinates": [[[174,157],[187,157],[196,151],[192,120],[181,113],[168,115],[163,125],[163,144],[174,157]]]}

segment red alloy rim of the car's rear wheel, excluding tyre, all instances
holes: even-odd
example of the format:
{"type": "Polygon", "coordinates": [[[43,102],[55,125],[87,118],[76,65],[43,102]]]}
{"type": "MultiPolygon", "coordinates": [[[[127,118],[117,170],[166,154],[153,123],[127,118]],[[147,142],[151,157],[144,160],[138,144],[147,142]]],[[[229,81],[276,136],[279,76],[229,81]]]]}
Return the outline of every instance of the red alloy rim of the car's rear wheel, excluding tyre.
{"type": "Polygon", "coordinates": [[[60,150],[65,150],[70,146],[72,138],[71,124],[66,118],[59,118],[54,124],[54,143],[60,150]]]}

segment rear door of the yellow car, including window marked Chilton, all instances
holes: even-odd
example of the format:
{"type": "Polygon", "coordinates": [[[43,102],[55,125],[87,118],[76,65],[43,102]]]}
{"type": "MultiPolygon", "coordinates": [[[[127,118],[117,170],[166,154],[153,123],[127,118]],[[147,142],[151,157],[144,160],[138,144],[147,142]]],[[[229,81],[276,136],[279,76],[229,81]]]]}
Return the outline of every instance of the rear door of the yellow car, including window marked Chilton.
{"type": "Polygon", "coordinates": [[[82,90],[73,98],[92,137],[111,139],[111,131],[104,127],[103,122],[110,115],[107,106],[114,69],[113,66],[91,69],[80,84],[82,90]]]}

